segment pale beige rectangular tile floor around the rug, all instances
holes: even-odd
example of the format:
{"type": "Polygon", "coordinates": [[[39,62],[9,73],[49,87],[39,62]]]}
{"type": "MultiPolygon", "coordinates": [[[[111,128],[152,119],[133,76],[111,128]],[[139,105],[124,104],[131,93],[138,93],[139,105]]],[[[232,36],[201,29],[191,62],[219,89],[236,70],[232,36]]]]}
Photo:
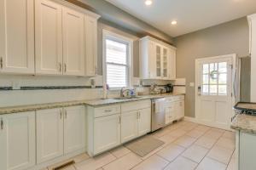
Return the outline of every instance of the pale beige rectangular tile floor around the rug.
{"type": "Polygon", "coordinates": [[[193,122],[177,122],[149,134],[166,144],[148,156],[124,146],[100,156],[77,156],[64,170],[234,170],[235,133],[193,122]]]}

